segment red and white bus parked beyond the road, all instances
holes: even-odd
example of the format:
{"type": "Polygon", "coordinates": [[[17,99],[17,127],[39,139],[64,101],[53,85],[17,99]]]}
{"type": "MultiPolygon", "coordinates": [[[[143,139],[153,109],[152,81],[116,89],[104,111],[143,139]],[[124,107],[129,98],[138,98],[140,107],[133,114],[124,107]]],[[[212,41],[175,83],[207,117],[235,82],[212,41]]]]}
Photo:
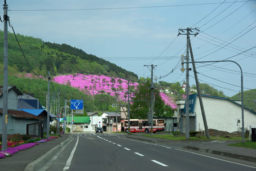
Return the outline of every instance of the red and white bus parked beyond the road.
{"type": "MultiPolygon", "coordinates": [[[[128,120],[121,120],[122,131],[128,133],[128,120]]],[[[130,119],[130,132],[145,132],[149,133],[151,125],[148,124],[148,120],[130,119]]],[[[164,119],[153,119],[153,133],[165,131],[164,119]]]]}

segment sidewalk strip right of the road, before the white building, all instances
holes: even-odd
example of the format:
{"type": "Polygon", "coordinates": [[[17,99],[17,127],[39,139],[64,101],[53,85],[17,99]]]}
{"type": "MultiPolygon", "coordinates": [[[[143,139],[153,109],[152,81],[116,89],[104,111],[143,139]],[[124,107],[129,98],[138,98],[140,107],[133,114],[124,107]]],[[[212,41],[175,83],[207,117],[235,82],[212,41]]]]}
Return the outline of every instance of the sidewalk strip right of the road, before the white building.
{"type": "Polygon", "coordinates": [[[143,134],[127,135],[127,138],[160,143],[177,148],[207,152],[210,154],[221,155],[228,158],[240,159],[256,163],[256,149],[246,149],[242,147],[227,146],[230,143],[240,141],[174,141],[162,138],[143,137],[143,134]]]}

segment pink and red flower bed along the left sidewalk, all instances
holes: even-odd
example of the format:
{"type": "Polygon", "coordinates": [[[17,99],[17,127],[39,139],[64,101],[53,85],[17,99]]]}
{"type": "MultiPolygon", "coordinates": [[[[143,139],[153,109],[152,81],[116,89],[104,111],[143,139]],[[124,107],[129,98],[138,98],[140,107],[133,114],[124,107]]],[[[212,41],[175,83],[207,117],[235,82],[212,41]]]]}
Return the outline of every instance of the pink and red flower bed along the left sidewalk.
{"type": "MultiPolygon", "coordinates": [[[[49,137],[48,139],[43,139],[43,140],[40,140],[40,141],[37,141],[36,143],[32,142],[32,143],[14,143],[14,142],[11,142],[11,141],[8,141],[7,143],[7,150],[6,151],[0,151],[0,159],[2,158],[5,158],[6,156],[12,156],[14,155],[16,152],[19,152],[19,151],[22,151],[22,150],[26,150],[26,149],[29,149],[31,147],[34,147],[36,145],[39,145],[39,143],[44,143],[44,142],[47,142],[47,141],[51,141],[51,140],[54,140],[55,138],[59,138],[57,136],[54,136],[54,137],[49,137]],[[15,144],[15,147],[14,147],[14,144],[15,144]]],[[[1,142],[0,142],[1,144],[1,142]]],[[[2,146],[0,146],[2,147],[2,146]]]]}

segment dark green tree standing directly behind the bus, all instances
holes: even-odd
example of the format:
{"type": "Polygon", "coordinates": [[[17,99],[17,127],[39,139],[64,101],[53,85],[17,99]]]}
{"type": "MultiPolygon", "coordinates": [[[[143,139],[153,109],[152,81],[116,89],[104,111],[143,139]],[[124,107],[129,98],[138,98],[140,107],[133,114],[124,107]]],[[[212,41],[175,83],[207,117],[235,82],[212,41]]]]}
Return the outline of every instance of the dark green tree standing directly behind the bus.
{"type": "MultiPolygon", "coordinates": [[[[147,119],[149,106],[151,101],[151,89],[149,88],[151,80],[149,78],[140,80],[139,86],[134,91],[132,98],[133,104],[131,105],[130,116],[131,119],[147,119]]],[[[166,106],[160,96],[160,92],[154,90],[154,116],[156,117],[171,117],[173,111],[170,106],[166,106]]]]}

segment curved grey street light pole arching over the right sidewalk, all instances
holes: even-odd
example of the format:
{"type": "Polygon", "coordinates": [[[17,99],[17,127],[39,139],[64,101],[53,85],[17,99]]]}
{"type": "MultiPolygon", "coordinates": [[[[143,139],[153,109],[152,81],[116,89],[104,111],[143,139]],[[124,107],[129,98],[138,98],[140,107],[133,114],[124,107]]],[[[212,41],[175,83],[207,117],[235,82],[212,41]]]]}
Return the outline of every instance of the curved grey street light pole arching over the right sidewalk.
{"type": "MultiPolygon", "coordinates": [[[[240,71],[241,71],[241,106],[242,106],[242,143],[244,143],[245,142],[245,137],[244,137],[244,81],[243,81],[243,77],[242,77],[242,68],[241,68],[241,66],[237,63],[237,62],[235,62],[235,61],[231,61],[231,60],[223,60],[223,61],[196,61],[196,62],[188,62],[188,63],[191,63],[191,64],[193,64],[193,63],[209,63],[209,62],[211,62],[211,63],[213,63],[213,62],[215,62],[215,63],[217,63],[217,62],[233,62],[233,63],[235,63],[236,65],[238,65],[239,66],[239,68],[240,68],[240,71]]],[[[187,63],[187,62],[184,62],[184,63],[187,63]]]]}

